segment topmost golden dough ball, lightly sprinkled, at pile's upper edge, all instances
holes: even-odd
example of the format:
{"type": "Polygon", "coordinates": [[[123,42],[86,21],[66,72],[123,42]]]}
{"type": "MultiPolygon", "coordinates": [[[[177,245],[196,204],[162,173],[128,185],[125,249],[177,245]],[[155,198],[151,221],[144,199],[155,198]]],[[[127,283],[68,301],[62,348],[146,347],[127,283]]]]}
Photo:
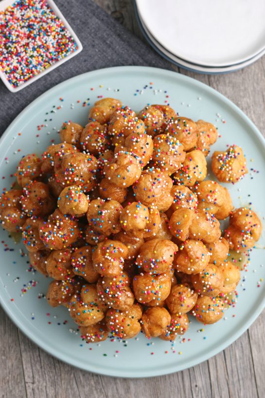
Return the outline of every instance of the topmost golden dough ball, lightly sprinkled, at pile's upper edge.
{"type": "Polygon", "coordinates": [[[109,122],[112,113],[121,108],[121,106],[121,101],[115,98],[102,98],[96,101],[94,106],[89,110],[88,120],[104,125],[109,122]]]}

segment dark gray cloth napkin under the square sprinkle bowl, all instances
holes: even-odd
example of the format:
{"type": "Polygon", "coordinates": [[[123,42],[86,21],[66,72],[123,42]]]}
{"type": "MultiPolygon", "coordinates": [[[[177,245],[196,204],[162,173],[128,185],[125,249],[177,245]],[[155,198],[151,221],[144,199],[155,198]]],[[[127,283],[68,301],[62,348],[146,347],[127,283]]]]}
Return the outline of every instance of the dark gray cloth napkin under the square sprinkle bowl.
{"type": "Polygon", "coordinates": [[[55,0],[80,39],[83,50],[30,86],[12,93],[0,82],[0,135],[19,112],[43,92],[78,74],[96,69],[140,65],[170,69],[170,64],[92,0],[55,0]]]}

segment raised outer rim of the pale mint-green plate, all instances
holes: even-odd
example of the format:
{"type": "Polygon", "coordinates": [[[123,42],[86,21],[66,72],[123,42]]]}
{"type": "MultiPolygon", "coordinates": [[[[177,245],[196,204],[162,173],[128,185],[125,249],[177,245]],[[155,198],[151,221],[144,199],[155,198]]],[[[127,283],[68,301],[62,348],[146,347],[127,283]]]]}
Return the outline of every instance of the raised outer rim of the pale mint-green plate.
{"type": "MultiPolygon", "coordinates": [[[[154,68],[154,67],[145,67],[145,66],[119,66],[119,67],[110,67],[110,68],[104,68],[104,69],[99,69],[96,71],[91,71],[91,72],[86,72],[80,75],[77,75],[75,77],[72,77],[68,80],[65,80],[62,83],[59,83],[58,85],[54,86],[50,90],[47,90],[43,94],[41,94],[39,97],[37,97],[34,101],[32,101],[25,109],[23,109],[18,116],[14,119],[14,121],[7,127],[5,132],[0,138],[0,147],[5,144],[6,139],[8,139],[8,135],[10,131],[16,126],[16,124],[19,124],[20,118],[22,118],[27,112],[29,112],[32,107],[34,107],[39,101],[42,101],[45,99],[45,97],[49,96],[49,94],[52,91],[58,90],[58,89],[65,89],[67,85],[71,85],[72,82],[77,81],[79,79],[85,78],[85,76],[89,75],[91,76],[97,76],[97,75],[106,75],[107,72],[121,72],[121,70],[127,70],[128,72],[150,72],[150,75],[152,72],[155,73],[160,73],[161,76],[163,74],[167,74],[168,76],[171,76],[172,78],[176,78],[183,80],[184,82],[189,82],[193,83],[196,87],[201,88],[203,90],[206,90],[210,93],[212,93],[214,96],[219,97],[219,99],[223,102],[225,102],[230,109],[232,109],[237,115],[241,117],[241,119],[244,120],[244,123],[246,123],[249,127],[250,130],[252,130],[251,134],[254,133],[255,137],[258,139],[260,142],[261,146],[263,147],[263,150],[265,151],[265,138],[261,134],[261,132],[258,130],[258,128],[253,124],[253,122],[247,117],[247,115],[240,109],[238,108],[232,101],[230,101],[227,97],[225,97],[223,94],[219,93],[217,90],[212,89],[212,87],[207,86],[206,84],[195,80],[189,76],[169,71],[166,69],[161,69],[161,68],[154,68]]],[[[227,339],[224,343],[219,344],[216,348],[209,350],[205,350],[205,353],[203,355],[199,355],[199,359],[195,357],[193,360],[190,360],[187,365],[180,366],[176,362],[176,364],[171,365],[170,370],[169,369],[152,369],[152,370],[145,370],[144,372],[141,372],[141,374],[131,374],[130,370],[123,370],[123,374],[119,375],[114,369],[108,369],[105,371],[105,369],[100,369],[100,368],[93,368],[89,364],[86,365],[84,362],[79,363],[75,360],[71,360],[71,358],[68,357],[67,354],[62,353],[62,352],[54,352],[53,349],[50,349],[48,344],[45,344],[41,341],[38,336],[35,336],[34,332],[29,330],[26,326],[23,325],[21,321],[19,321],[19,314],[15,314],[14,311],[12,312],[12,305],[10,305],[10,302],[7,299],[7,293],[6,291],[1,291],[0,290],[0,304],[2,308],[5,310],[6,314],[9,316],[9,318],[14,322],[16,326],[30,339],[32,340],[36,345],[38,345],[40,348],[42,348],[44,351],[47,353],[51,354],[55,358],[66,362],[72,366],[75,366],[79,369],[83,369],[92,373],[96,374],[102,374],[106,376],[112,376],[112,377],[121,377],[121,378],[146,378],[146,377],[156,377],[156,376],[162,376],[166,374],[171,374],[177,371],[181,371],[187,368],[190,368],[192,366],[195,366],[201,362],[204,362],[208,360],[209,358],[212,358],[214,355],[218,354],[219,352],[223,351],[225,348],[227,348],[230,344],[232,344],[235,340],[237,340],[247,329],[249,326],[252,325],[252,323],[258,318],[262,310],[265,308],[265,296],[257,306],[257,308],[252,312],[252,314],[247,317],[247,320],[237,329],[236,332],[232,332],[231,336],[229,339],[227,339]]],[[[13,307],[14,308],[14,307],[13,307]]]]}

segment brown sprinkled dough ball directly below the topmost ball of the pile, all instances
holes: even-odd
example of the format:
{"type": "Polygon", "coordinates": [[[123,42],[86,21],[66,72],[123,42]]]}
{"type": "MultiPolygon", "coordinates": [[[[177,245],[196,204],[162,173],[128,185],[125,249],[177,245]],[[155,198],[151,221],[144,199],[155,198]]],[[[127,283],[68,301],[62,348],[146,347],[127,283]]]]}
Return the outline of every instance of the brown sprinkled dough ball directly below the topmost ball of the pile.
{"type": "Polygon", "coordinates": [[[80,145],[83,150],[97,156],[104,153],[110,144],[106,125],[101,125],[98,122],[90,122],[83,129],[80,137],[80,145]]]}

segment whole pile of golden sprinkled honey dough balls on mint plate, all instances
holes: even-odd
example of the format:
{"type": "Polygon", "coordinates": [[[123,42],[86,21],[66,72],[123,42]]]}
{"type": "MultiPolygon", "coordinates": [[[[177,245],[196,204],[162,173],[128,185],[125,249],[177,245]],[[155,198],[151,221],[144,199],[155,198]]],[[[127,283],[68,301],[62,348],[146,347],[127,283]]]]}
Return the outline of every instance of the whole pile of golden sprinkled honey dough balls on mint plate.
{"type": "MultiPolygon", "coordinates": [[[[205,180],[216,128],[169,106],[137,115],[104,98],[85,128],[69,121],[59,134],[42,158],[21,159],[20,188],[0,199],[2,227],[21,231],[31,265],[53,278],[49,304],[65,306],[88,343],[141,330],[173,341],[188,313],[219,321],[240,280],[229,250],[250,251],[262,226],[252,209],[234,209],[226,187],[205,180]]],[[[212,171],[240,181],[242,149],[213,152],[212,171]]]]}

